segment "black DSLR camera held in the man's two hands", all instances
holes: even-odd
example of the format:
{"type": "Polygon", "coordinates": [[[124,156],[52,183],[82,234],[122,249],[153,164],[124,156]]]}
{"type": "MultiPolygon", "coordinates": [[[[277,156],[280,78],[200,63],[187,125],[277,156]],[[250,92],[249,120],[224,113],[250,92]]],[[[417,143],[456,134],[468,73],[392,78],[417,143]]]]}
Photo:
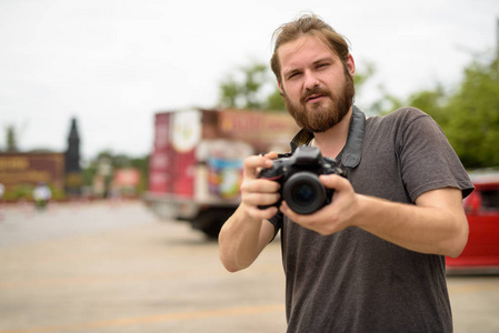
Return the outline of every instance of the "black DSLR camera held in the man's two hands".
{"type": "MultiPolygon", "coordinates": [[[[311,214],[331,202],[335,190],[325,188],[319,180],[320,174],[331,173],[347,176],[335,159],[322,157],[315,147],[302,145],[295,153],[273,160],[272,167],[262,169],[259,178],[279,182],[281,200],[286,200],[292,211],[311,214]]],[[[260,209],[279,208],[281,200],[260,209]]]]}

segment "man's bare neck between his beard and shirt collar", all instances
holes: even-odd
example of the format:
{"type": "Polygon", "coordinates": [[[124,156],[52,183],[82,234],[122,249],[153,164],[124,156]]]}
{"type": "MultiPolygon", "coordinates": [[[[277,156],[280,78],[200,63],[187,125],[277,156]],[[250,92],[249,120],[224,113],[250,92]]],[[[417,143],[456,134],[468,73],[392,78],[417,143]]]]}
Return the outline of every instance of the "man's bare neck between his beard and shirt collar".
{"type": "Polygon", "coordinates": [[[313,133],[313,145],[317,147],[322,155],[336,158],[347,143],[348,130],[350,128],[350,119],[352,114],[352,107],[343,119],[322,133],[313,133]]]}

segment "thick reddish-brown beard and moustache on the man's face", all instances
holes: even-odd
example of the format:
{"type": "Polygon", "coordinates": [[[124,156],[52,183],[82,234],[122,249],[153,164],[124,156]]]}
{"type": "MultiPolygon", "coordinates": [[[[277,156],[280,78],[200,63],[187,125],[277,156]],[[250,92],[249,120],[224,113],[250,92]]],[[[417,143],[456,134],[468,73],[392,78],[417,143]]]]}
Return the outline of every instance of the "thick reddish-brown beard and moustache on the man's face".
{"type": "Polygon", "coordinates": [[[337,95],[329,89],[315,87],[301,95],[299,103],[292,102],[286,93],[282,97],[286,109],[300,128],[312,133],[322,133],[343,120],[353,103],[355,94],[353,79],[346,72],[343,84],[337,95]],[[307,105],[307,99],[315,94],[327,97],[327,100],[307,105]]]}

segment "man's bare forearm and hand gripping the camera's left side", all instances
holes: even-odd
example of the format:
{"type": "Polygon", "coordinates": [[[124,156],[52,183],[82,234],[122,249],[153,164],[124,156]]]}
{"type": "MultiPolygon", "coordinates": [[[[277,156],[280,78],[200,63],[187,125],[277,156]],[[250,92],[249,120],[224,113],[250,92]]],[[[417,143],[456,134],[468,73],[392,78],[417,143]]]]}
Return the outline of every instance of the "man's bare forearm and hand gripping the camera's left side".
{"type": "Polygon", "coordinates": [[[275,226],[267,220],[278,212],[277,208],[258,208],[279,200],[279,184],[258,179],[259,169],[270,168],[277,154],[271,153],[244,161],[241,204],[223,224],[219,235],[220,260],[230,272],[251,265],[275,235],[275,226]]]}

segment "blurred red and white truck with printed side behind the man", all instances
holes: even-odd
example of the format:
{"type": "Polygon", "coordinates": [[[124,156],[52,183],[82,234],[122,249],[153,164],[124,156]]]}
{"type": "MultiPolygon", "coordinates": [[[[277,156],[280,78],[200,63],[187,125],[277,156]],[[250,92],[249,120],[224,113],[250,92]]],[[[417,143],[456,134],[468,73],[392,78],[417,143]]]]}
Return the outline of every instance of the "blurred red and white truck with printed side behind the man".
{"type": "Polygon", "coordinates": [[[298,130],[286,112],[158,112],[144,201],[161,220],[188,221],[193,229],[217,238],[240,203],[244,159],[288,152],[298,130]]]}

